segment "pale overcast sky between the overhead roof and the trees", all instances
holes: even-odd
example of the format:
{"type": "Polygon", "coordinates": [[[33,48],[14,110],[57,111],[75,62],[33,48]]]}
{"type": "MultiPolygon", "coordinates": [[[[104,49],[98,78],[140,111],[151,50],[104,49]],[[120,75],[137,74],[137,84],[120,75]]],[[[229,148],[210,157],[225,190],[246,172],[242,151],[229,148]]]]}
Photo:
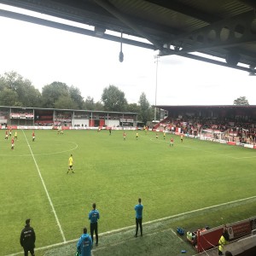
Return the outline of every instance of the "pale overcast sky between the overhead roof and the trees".
{"type": "Polygon", "coordinates": [[[113,84],[129,103],[137,103],[145,92],[154,104],[157,85],[159,105],[232,105],[239,96],[256,105],[256,77],[246,72],[173,55],[160,57],[156,83],[153,50],[124,44],[120,63],[119,43],[3,17],[0,27],[0,74],[20,73],[40,91],[60,81],[97,102],[113,84]]]}

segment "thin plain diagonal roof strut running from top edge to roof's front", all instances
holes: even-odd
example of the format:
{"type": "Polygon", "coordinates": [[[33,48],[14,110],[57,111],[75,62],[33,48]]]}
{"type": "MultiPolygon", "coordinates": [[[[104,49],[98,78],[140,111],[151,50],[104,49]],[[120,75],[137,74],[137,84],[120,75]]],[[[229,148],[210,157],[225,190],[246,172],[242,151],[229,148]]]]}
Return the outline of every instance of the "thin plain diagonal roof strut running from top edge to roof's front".
{"type": "Polygon", "coordinates": [[[122,15],[119,13],[119,10],[116,9],[113,5],[108,3],[107,0],[94,0],[95,3],[97,3],[99,6],[101,6],[103,9],[108,10],[110,14],[112,14],[117,19],[123,21],[126,26],[131,27],[135,32],[137,32],[139,35],[141,35],[143,38],[148,39],[148,41],[152,44],[154,44],[155,49],[163,49],[163,45],[160,44],[158,41],[154,40],[153,38],[150,38],[147,33],[143,32],[142,29],[140,29],[138,26],[133,24],[133,22],[127,18],[125,18],[125,15],[122,15]]]}

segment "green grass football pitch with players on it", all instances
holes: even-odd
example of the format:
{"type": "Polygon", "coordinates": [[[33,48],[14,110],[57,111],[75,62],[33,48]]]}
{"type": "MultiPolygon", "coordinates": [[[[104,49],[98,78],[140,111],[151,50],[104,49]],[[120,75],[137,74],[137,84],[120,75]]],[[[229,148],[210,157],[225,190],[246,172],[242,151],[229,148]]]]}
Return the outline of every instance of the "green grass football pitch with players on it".
{"type": "Polygon", "coordinates": [[[183,247],[192,255],[173,234],[177,226],[195,229],[255,215],[253,198],[238,201],[256,195],[256,151],[250,148],[187,137],[181,143],[176,136],[169,147],[171,135],[156,139],[150,131],[139,131],[138,140],[136,131],[126,131],[125,141],[122,131],[111,136],[108,131],[36,131],[33,143],[32,131],[18,131],[11,150],[4,134],[0,131],[0,255],[22,252],[20,230],[26,218],[32,218],[37,248],[67,241],[61,246],[66,254],[49,247],[36,255],[73,255],[82,228],[90,226],[92,202],[101,213],[100,234],[130,227],[100,236],[93,255],[179,255],[175,252],[183,247]],[[70,154],[74,174],[67,174],[70,154]],[[140,242],[133,237],[138,197],[143,199],[143,223],[148,223],[140,242]],[[166,218],[182,212],[191,213],[166,218]],[[150,224],[160,218],[166,219],[150,224]],[[176,240],[174,253],[170,240],[176,240]],[[155,253],[157,246],[161,249],[155,253]]]}

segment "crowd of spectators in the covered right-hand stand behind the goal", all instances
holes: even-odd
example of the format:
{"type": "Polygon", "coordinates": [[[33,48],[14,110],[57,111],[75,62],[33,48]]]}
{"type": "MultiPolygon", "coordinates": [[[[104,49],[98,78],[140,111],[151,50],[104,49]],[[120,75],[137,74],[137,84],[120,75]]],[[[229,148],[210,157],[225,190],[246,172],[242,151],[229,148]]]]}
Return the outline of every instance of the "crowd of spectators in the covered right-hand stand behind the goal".
{"type": "Polygon", "coordinates": [[[224,132],[226,140],[240,143],[256,143],[256,123],[253,121],[242,122],[241,120],[220,119],[169,119],[160,123],[159,129],[176,131],[180,128],[181,133],[198,136],[202,130],[224,132]]]}

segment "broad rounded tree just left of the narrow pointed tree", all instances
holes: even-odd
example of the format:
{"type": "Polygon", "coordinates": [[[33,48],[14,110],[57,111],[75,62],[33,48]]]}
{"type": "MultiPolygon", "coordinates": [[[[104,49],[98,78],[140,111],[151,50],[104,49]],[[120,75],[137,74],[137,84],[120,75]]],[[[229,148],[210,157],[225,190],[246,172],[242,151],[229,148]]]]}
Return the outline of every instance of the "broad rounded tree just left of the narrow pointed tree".
{"type": "Polygon", "coordinates": [[[127,107],[125,93],[114,85],[109,85],[103,90],[102,102],[108,111],[125,111],[127,107]]]}

